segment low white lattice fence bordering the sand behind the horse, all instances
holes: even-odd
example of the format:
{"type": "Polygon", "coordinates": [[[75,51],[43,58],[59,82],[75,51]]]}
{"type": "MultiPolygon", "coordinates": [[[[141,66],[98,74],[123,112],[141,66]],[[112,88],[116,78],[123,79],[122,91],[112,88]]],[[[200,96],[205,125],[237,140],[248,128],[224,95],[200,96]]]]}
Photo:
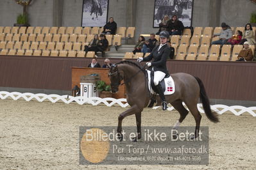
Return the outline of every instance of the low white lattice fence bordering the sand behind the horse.
{"type": "MultiPolygon", "coordinates": [[[[64,102],[65,104],[70,104],[71,102],[76,102],[77,104],[83,105],[83,104],[91,104],[91,105],[99,105],[99,104],[105,104],[108,107],[111,107],[112,105],[119,105],[121,107],[128,107],[129,104],[126,101],[126,98],[99,98],[99,97],[90,97],[90,98],[84,98],[84,97],[72,97],[69,95],[46,95],[43,93],[33,94],[33,93],[19,93],[19,92],[8,92],[8,91],[0,91],[0,98],[2,100],[6,98],[12,98],[13,100],[18,100],[19,98],[23,98],[26,101],[30,100],[37,100],[38,102],[44,102],[44,100],[49,100],[52,103],[56,102],[64,102]]],[[[183,103],[183,105],[185,105],[183,103]]],[[[153,107],[153,109],[158,109],[158,107],[153,107]]],[[[173,106],[169,107],[169,111],[173,111],[175,108],[173,106]]],[[[230,111],[234,113],[236,116],[239,116],[243,114],[244,112],[248,112],[249,114],[252,114],[252,116],[256,117],[256,107],[243,107],[241,105],[211,105],[211,109],[218,112],[218,114],[223,114],[226,111],[230,111]]],[[[203,107],[201,104],[198,104],[198,110],[200,112],[203,111],[203,107]]]]}

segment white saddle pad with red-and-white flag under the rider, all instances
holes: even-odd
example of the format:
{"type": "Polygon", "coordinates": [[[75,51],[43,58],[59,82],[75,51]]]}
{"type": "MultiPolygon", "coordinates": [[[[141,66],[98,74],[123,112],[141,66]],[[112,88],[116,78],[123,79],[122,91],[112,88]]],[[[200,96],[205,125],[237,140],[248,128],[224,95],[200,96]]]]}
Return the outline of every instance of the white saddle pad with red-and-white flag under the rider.
{"type": "MultiPolygon", "coordinates": [[[[150,71],[147,70],[148,72],[148,88],[151,94],[154,94],[155,91],[151,88],[151,77],[150,77],[150,71]]],[[[164,79],[164,82],[166,84],[166,90],[164,91],[164,95],[171,95],[173,93],[175,93],[175,81],[173,81],[173,78],[171,77],[171,75],[164,79]]]]}

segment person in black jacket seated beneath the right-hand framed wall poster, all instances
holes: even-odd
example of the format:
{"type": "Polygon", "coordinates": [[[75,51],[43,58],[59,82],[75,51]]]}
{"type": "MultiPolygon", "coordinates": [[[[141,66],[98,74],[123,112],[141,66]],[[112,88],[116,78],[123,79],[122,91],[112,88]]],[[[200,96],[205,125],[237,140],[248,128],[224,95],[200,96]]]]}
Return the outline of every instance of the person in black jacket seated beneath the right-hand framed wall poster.
{"type": "Polygon", "coordinates": [[[178,20],[178,17],[176,15],[173,15],[173,17],[171,17],[171,20],[168,21],[167,25],[169,29],[169,35],[182,35],[184,26],[183,23],[178,20]]]}

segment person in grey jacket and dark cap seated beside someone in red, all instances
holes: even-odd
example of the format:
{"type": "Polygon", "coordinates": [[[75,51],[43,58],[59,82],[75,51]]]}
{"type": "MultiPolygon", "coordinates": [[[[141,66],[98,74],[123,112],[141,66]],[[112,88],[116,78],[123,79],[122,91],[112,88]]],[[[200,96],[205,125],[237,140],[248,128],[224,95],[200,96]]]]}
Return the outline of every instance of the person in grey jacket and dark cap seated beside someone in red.
{"type": "Polygon", "coordinates": [[[222,27],[221,33],[214,34],[214,37],[219,36],[219,40],[212,42],[212,44],[224,45],[228,42],[230,38],[232,38],[233,31],[230,28],[230,26],[226,25],[226,23],[223,22],[221,23],[221,27],[222,27]]]}

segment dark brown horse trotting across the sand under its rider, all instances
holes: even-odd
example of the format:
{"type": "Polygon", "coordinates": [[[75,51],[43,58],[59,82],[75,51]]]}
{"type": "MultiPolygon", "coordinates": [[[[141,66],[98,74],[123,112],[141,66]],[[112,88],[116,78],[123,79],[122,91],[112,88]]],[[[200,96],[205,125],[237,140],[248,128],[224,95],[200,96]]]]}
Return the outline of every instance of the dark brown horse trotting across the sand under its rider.
{"type": "MultiPolygon", "coordinates": [[[[137,124],[137,136],[133,141],[141,139],[141,112],[148,106],[152,95],[148,88],[148,77],[146,70],[137,63],[132,61],[121,61],[112,66],[109,66],[108,77],[110,78],[110,86],[112,93],[117,93],[119,86],[126,85],[126,99],[130,108],[122,112],[118,117],[117,136],[119,140],[123,140],[122,121],[126,116],[135,114],[137,124]]],[[[198,78],[188,73],[173,73],[171,74],[175,82],[175,93],[166,95],[166,102],[180,113],[180,118],[173,128],[178,129],[180,123],[185,119],[189,111],[191,111],[194,120],[196,121],[196,130],[194,137],[198,137],[200,129],[201,114],[198,111],[198,99],[201,98],[203,109],[207,118],[210,121],[217,123],[219,121],[218,114],[210,109],[209,98],[203,86],[203,82],[198,78]],[[189,111],[185,109],[182,102],[187,105],[189,111]]],[[[157,105],[160,105],[160,98],[157,96],[157,105]]]]}

